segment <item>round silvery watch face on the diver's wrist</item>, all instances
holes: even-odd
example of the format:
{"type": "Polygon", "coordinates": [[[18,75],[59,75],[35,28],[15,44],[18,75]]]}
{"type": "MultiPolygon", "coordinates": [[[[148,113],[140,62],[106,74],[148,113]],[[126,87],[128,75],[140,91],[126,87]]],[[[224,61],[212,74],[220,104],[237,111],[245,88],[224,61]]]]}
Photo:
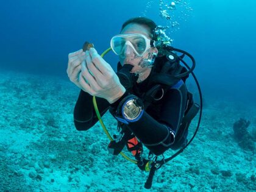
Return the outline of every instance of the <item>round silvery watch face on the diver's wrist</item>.
{"type": "Polygon", "coordinates": [[[130,99],[126,102],[124,106],[124,115],[127,119],[133,120],[136,119],[141,113],[142,107],[137,105],[135,99],[130,99]]]}

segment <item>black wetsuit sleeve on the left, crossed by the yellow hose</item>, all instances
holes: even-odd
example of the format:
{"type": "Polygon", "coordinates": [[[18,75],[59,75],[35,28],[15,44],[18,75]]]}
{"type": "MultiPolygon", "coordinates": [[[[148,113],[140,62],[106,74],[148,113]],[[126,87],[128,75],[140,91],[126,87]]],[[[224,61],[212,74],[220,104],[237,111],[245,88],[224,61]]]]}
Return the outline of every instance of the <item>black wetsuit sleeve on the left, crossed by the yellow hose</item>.
{"type": "MultiPolygon", "coordinates": [[[[106,99],[96,97],[101,116],[107,112],[109,102],[106,99]]],[[[98,122],[98,117],[93,107],[93,96],[81,90],[74,107],[74,125],[77,130],[88,130],[98,122]]]]}

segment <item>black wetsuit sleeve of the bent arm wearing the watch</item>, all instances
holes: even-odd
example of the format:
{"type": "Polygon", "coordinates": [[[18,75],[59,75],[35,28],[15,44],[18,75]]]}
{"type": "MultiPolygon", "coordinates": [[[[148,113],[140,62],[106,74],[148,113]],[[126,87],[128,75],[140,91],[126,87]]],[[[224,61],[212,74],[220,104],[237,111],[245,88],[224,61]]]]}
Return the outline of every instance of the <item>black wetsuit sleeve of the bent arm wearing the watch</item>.
{"type": "Polygon", "coordinates": [[[154,119],[144,112],[138,121],[126,126],[155,155],[163,154],[174,143],[171,132],[177,132],[186,104],[187,88],[180,81],[166,92],[160,108],[160,118],[154,119]]]}

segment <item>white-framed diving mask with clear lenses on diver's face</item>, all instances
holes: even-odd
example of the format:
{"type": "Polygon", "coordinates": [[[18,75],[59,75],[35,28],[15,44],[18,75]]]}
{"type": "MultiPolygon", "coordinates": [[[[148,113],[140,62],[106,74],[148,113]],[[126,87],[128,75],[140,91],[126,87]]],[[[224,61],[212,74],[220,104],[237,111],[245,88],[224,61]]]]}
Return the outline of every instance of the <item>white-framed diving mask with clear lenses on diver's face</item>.
{"type": "Polygon", "coordinates": [[[154,47],[154,41],[142,34],[116,35],[112,37],[110,46],[116,55],[123,54],[124,48],[130,46],[141,57],[149,48],[154,47]]]}

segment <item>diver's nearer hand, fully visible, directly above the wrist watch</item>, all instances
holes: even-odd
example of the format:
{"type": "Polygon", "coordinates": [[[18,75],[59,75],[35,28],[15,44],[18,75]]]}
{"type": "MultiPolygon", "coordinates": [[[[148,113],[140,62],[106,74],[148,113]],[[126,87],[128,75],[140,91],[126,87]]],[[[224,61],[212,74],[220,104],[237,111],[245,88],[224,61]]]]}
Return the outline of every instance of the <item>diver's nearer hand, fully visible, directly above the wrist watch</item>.
{"type": "Polygon", "coordinates": [[[126,91],[115,71],[94,48],[85,52],[79,84],[85,92],[107,99],[110,104],[121,98],[126,91]]]}

